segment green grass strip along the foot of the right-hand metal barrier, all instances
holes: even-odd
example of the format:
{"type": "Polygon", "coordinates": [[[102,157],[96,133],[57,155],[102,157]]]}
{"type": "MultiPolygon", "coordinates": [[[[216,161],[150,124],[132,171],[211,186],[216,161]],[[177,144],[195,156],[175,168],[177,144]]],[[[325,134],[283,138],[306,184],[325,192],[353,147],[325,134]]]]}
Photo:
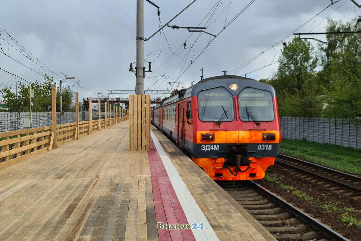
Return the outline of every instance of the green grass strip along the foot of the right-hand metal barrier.
{"type": "Polygon", "coordinates": [[[279,152],[340,171],[361,174],[361,150],[351,147],[282,139],[279,152]]]}

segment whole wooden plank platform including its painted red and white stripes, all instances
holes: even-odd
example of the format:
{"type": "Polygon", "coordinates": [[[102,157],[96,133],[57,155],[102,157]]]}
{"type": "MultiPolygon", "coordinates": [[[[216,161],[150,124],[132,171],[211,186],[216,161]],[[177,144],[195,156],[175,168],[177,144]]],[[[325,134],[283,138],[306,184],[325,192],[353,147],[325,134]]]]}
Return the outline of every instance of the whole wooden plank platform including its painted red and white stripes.
{"type": "Polygon", "coordinates": [[[0,240],[275,240],[152,131],[151,151],[129,152],[122,122],[0,169],[0,240]]]}

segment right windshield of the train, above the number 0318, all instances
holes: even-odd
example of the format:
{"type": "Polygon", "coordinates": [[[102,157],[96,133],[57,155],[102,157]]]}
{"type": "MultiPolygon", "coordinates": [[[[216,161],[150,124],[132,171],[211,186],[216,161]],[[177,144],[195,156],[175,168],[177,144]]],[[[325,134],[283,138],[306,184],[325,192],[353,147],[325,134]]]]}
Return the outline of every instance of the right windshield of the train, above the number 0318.
{"type": "Polygon", "coordinates": [[[245,88],[238,95],[239,114],[243,121],[272,121],[272,94],[268,91],[245,88]]]}

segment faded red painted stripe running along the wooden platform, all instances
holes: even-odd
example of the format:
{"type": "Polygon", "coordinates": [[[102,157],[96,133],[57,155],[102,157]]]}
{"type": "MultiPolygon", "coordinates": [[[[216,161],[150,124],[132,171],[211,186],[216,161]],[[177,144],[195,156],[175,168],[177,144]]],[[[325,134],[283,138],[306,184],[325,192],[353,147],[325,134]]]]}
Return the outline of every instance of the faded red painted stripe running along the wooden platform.
{"type": "MultiPolygon", "coordinates": [[[[157,222],[165,224],[188,224],[186,215],[175,194],[168,173],[151,139],[151,150],[148,151],[149,166],[153,189],[153,201],[157,222]]],[[[156,225],[156,224],[155,224],[156,225]]],[[[195,241],[190,229],[158,229],[159,241],[184,240],[195,241]]]]}

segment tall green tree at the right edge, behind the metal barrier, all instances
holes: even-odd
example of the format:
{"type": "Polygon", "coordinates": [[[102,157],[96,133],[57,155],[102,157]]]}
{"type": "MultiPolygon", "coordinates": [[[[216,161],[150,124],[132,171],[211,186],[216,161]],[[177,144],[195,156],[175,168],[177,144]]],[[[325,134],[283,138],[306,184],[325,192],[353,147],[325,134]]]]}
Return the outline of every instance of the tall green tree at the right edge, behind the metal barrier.
{"type": "MultiPolygon", "coordinates": [[[[326,31],[360,31],[356,19],[348,23],[329,19],[326,31]]],[[[318,77],[326,94],[327,117],[361,116],[361,40],[358,34],[328,34],[321,45],[318,77]]]]}

